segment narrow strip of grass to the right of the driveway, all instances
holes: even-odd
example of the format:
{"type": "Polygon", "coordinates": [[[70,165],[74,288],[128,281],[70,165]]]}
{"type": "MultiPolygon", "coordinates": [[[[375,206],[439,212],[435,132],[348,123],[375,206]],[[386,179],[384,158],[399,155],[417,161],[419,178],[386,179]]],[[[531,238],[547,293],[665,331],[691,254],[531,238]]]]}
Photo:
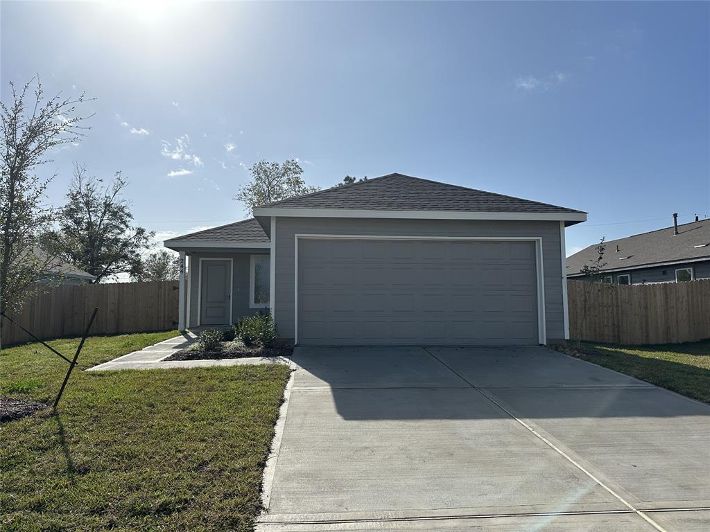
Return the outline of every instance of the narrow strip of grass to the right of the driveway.
{"type": "Polygon", "coordinates": [[[710,340],[641,346],[583,342],[581,348],[583,360],[710,403],[710,340]]]}

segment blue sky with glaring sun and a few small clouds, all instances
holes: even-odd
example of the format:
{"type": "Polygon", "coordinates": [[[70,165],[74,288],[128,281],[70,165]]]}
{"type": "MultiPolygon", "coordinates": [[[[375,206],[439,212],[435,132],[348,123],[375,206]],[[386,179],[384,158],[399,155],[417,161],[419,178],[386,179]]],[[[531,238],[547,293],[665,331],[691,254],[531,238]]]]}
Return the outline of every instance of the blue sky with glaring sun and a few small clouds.
{"type": "Polygon", "coordinates": [[[706,2],[1,3],[2,99],[97,98],[78,146],[159,238],[244,218],[261,158],[589,211],[568,253],[710,214],[706,2]],[[633,221],[633,223],[628,223],[633,221]]]}

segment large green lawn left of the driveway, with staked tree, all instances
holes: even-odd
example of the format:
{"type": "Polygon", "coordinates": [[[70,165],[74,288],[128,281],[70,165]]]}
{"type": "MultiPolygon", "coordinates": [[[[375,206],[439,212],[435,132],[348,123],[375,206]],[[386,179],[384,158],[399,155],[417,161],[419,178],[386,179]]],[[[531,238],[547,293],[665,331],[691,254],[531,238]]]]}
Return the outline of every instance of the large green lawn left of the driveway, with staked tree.
{"type": "MultiPolygon", "coordinates": [[[[80,360],[91,366],[171,336],[90,338],[80,360]]],[[[52,343],[62,353],[76,344],[52,343]]],[[[21,345],[3,350],[1,382],[32,382],[11,394],[47,401],[66,367],[44,348],[21,345]]],[[[58,416],[0,429],[0,528],[251,530],[289,372],[285,365],[75,371],[58,416]]]]}

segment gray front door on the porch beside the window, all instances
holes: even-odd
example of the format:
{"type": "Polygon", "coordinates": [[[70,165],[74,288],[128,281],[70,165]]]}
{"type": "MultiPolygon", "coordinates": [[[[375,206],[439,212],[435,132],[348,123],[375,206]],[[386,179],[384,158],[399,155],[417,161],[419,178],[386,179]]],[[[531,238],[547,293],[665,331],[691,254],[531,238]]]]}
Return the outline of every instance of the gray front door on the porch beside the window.
{"type": "Polygon", "coordinates": [[[230,323],[231,260],[202,259],[200,325],[230,323]]]}

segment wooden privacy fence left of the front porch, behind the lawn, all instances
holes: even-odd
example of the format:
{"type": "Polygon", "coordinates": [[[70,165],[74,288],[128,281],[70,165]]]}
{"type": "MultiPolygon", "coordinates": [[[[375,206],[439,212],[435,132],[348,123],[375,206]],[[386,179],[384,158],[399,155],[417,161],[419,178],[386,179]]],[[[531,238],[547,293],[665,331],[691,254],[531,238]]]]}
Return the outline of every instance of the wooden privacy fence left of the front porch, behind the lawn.
{"type": "MultiPolygon", "coordinates": [[[[175,281],[61,285],[46,287],[10,317],[39,338],[81,336],[94,307],[92,335],[168,331],[178,326],[178,299],[175,281]]],[[[30,339],[3,319],[3,345],[30,339]]]]}

